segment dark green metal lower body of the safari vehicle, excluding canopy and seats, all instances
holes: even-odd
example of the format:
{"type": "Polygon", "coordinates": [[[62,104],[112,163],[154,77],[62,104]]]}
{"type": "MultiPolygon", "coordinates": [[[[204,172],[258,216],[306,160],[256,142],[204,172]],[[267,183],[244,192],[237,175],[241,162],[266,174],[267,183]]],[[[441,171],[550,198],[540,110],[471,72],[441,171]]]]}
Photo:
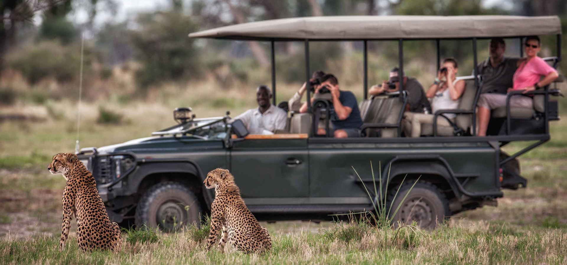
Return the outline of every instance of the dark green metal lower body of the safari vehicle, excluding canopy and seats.
{"type": "Polygon", "coordinates": [[[373,210],[363,186],[376,197],[371,166],[376,181],[379,175],[384,178],[384,186],[388,175],[391,187],[404,177],[404,183],[413,184],[420,177],[434,184],[442,195],[442,205],[435,206],[447,207],[439,210],[449,216],[502,197],[499,153],[498,145],[481,140],[156,136],[82,149],[79,158],[94,173],[109,215],[119,223],[139,214],[135,207],[156,186],[184,187],[191,194],[189,200],[170,196],[167,199],[175,203],[149,213],[156,224],[168,228],[174,220],[166,224],[162,219],[198,219],[189,216],[191,211],[185,213],[185,206],[201,214],[210,210],[214,190],[205,189],[202,181],[215,168],[231,171],[258,219],[328,219],[329,214],[373,210]]]}

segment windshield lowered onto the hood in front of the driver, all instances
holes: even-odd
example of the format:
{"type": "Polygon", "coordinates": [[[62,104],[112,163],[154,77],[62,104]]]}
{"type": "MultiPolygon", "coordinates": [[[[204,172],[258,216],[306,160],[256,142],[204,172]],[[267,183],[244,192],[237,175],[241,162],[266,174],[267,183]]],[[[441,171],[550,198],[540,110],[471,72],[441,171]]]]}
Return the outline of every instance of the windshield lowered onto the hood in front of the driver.
{"type": "Polygon", "coordinates": [[[161,131],[153,132],[152,135],[166,134],[188,134],[204,140],[226,138],[226,124],[223,117],[194,119],[187,123],[178,124],[161,131]]]}

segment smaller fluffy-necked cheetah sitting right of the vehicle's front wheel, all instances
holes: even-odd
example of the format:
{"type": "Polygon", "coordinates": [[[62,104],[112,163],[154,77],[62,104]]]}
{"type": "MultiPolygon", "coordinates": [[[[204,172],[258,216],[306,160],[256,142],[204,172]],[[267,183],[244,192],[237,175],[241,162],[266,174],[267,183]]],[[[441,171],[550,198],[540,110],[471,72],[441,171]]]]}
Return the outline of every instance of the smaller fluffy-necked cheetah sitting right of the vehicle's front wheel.
{"type": "Polygon", "coordinates": [[[207,250],[222,236],[218,246],[223,251],[226,241],[244,253],[263,253],[272,248],[272,239],[265,227],[248,210],[240,197],[240,189],[234,183],[234,176],[222,168],[207,174],[203,181],[207,189],[215,188],[215,197],[211,206],[211,230],[207,250]]]}

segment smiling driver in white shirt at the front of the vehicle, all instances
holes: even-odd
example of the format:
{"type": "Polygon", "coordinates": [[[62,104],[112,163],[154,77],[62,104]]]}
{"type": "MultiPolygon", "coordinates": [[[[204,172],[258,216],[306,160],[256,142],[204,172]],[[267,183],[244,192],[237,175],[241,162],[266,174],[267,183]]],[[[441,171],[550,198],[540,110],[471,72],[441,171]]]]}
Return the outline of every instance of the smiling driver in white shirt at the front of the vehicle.
{"type": "Polygon", "coordinates": [[[240,119],[250,134],[273,134],[277,130],[285,130],[287,113],[270,103],[272,90],[261,85],[256,89],[257,108],[245,111],[234,119],[240,119]]]}

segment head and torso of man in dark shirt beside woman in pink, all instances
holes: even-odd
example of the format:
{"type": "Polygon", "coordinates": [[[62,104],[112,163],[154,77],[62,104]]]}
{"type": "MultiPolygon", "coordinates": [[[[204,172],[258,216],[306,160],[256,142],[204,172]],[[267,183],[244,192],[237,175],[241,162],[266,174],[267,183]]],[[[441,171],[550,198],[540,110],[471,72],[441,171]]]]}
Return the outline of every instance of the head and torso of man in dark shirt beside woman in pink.
{"type": "Polygon", "coordinates": [[[507,89],[513,87],[512,78],[518,68],[518,58],[504,57],[505,51],[506,42],[502,38],[490,40],[489,57],[477,66],[483,80],[481,93],[506,94],[507,89]]]}

